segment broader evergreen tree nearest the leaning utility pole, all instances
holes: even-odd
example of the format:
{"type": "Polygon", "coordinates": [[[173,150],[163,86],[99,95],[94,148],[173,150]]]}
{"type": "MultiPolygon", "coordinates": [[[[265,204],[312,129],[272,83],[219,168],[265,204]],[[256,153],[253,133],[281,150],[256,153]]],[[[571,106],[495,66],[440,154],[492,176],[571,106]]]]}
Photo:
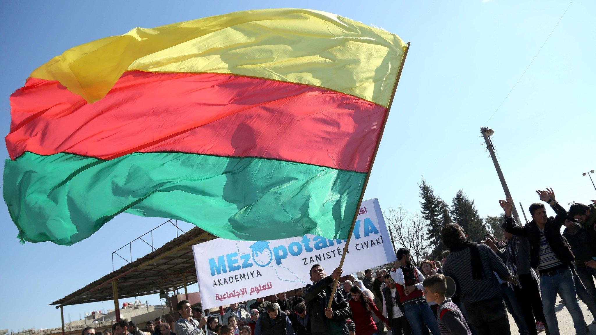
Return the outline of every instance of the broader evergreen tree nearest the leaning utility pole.
{"type": "Polygon", "coordinates": [[[465,233],[468,234],[468,241],[479,242],[488,232],[476,210],[474,200],[470,200],[462,190],[455,194],[449,213],[453,221],[464,228],[465,233]]]}

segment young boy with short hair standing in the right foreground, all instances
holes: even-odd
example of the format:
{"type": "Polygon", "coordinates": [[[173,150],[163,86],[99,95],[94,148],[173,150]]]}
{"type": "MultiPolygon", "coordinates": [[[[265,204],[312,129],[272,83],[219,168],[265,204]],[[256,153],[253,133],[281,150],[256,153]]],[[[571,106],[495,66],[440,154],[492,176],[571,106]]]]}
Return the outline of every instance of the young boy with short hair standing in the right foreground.
{"type": "Polygon", "coordinates": [[[422,282],[424,287],[424,297],[429,303],[435,302],[439,305],[437,309],[437,322],[441,334],[452,335],[471,335],[470,327],[465,322],[464,315],[461,313],[451,299],[445,299],[447,282],[442,274],[426,277],[422,282]]]}

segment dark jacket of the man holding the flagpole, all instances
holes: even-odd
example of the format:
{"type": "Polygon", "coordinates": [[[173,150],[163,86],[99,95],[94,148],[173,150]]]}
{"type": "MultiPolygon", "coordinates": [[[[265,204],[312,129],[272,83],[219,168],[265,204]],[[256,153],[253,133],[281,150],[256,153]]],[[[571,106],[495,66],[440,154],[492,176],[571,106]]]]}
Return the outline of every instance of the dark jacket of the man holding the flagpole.
{"type": "Polygon", "coordinates": [[[333,302],[331,303],[333,317],[331,319],[325,317],[325,308],[327,308],[329,299],[328,294],[331,294],[330,284],[332,283],[333,278],[327,276],[304,290],[303,297],[312,333],[330,334],[334,328],[342,328],[344,334],[348,333],[346,319],[352,317],[352,311],[350,311],[350,306],[340,293],[342,289],[337,289],[333,296],[333,302]],[[333,325],[331,322],[336,324],[333,325]]]}

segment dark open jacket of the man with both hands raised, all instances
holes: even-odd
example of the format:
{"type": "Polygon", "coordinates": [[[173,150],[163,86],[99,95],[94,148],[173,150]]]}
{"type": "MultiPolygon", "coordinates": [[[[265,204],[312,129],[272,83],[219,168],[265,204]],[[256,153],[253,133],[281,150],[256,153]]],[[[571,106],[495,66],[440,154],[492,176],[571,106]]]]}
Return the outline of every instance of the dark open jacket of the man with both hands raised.
{"type": "MultiPolygon", "coordinates": [[[[569,244],[563,240],[563,236],[561,235],[561,227],[567,218],[567,211],[557,202],[552,206],[552,209],[557,213],[557,216],[554,219],[548,218],[547,223],[544,225],[545,237],[555,256],[564,265],[572,265],[575,257],[569,244]]],[[[515,219],[511,217],[505,218],[505,231],[513,235],[527,237],[527,240],[530,242],[530,266],[532,268],[538,268],[538,264],[540,263],[540,231],[538,230],[536,221],[532,220],[529,224],[521,227],[516,224],[515,219]]]]}

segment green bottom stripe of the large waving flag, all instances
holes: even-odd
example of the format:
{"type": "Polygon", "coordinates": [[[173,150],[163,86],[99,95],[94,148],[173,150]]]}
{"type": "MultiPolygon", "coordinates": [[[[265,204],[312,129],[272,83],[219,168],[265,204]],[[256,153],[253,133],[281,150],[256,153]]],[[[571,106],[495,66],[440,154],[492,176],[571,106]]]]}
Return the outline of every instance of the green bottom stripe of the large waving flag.
{"type": "Polygon", "coordinates": [[[347,238],[366,174],[279,160],[132,153],[113,160],[24,153],[4,200],[21,240],[70,245],[119,213],[191,222],[233,240],[347,238]]]}

